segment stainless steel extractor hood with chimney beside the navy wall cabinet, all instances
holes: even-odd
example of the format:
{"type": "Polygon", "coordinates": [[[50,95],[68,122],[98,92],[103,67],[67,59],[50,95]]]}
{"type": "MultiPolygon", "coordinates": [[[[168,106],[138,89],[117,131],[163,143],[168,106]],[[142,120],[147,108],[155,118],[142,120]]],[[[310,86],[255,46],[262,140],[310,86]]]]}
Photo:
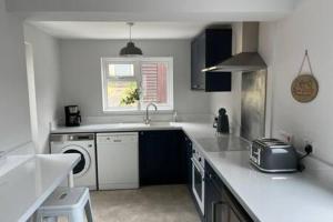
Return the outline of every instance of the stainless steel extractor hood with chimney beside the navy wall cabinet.
{"type": "Polygon", "coordinates": [[[258,53],[259,23],[244,22],[242,24],[242,52],[220,63],[203,69],[203,72],[234,72],[256,71],[266,69],[266,63],[258,53]]]}

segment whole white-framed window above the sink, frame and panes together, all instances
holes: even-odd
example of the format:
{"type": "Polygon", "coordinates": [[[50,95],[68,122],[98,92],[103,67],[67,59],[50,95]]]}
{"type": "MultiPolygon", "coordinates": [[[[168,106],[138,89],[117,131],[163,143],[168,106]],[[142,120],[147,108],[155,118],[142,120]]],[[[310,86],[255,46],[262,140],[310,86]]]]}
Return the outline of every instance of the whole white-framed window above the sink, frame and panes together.
{"type": "Polygon", "coordinates": [[[102,58],[104,111],[173,110],[172,58],[102,58]]]}

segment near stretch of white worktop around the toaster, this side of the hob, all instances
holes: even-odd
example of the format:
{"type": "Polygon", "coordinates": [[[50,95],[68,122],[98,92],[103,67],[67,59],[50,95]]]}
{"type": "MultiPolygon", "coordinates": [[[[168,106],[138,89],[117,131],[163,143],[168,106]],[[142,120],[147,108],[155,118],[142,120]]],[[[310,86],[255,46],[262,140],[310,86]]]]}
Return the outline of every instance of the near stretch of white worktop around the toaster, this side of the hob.
{"type": "Polygon", "coordinates": [[[261,173],[248,151],[206,153],[209,162],[255,221],[333,221],[332,170],[261,173]]]}

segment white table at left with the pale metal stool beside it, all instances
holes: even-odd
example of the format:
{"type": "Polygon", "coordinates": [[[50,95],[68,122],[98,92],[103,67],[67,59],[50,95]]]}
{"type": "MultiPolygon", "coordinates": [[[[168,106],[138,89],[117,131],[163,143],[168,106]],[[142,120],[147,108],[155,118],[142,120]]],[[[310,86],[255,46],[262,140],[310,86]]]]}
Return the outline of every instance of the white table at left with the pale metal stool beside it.
{"type": "Polygon", "coordinates": [[[1,222],[27,221],[65,176],[72,181],[79,160],[79,154],[37,154],[2,175],[1,222]]]}

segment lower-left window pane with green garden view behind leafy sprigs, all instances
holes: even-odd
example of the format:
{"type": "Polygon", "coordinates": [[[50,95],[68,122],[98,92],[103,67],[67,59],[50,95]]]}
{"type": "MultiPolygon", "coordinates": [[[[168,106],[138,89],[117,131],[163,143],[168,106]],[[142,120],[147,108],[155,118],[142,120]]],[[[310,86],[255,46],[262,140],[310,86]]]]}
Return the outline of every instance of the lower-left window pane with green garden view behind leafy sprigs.
{"type": "Polygon", "coordinates": [[[108,81],[108,108],[134,109],[138,108],[137,81],[108,81]]]}

